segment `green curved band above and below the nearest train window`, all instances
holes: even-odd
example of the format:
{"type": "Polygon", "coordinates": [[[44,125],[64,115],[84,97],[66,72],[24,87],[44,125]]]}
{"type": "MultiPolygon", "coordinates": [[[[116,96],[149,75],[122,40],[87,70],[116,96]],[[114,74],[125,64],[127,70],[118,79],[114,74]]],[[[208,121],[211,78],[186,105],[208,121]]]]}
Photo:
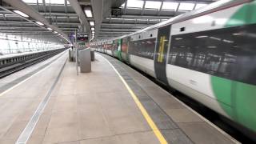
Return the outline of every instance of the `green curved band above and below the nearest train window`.
{"type": "MultiPolygon", "coordinates": [[[[256,1],[242,6],[225,27],[252,23],[256,23],[256,1]]],[[[214,95],[226,114],[235,122],[256,131],[256,86],[215,76],[211,77],[211,82],[214,95]]]]}

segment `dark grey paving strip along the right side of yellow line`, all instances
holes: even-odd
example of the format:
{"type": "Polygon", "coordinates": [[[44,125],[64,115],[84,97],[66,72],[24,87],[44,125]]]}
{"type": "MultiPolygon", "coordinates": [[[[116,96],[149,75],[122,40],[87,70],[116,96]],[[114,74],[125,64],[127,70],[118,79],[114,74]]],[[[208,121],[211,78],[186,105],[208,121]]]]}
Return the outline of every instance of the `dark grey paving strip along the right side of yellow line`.
{"type": "Polygon", "coordinates": [[[159,107],[158,104],[154,102],[148,94],[146,94],[145,90],[142,90],[142,87],[139,86],[132,77],[130,77],[130,74],[123,68],[125,65],[124,63],[119,62],[117,59],[111,58],[106,54],[102,54],[102,56],[106,58],[116,70],[118,70],[119,74],[122,75],[122,78],[125,79],[127,84],[134,91],[134,94],[137,95],[139,101],[145,107],[148,114],[150,114],[150,117],[158,126],[158,129],[161,131],[168,143],[193,143],[190,138],[188,138],[186,134],[184,134],[184,132],[175,124],[175,122],[161,109],[161,107],[159,107]]]}

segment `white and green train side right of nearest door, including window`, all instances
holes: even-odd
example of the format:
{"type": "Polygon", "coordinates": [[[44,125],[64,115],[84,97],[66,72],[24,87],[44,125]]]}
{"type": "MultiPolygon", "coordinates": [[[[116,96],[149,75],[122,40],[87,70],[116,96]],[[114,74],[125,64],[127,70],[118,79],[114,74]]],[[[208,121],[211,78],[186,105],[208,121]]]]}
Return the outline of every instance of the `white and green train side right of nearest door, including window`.
{"type": "Polygon", "coordinates": [[[256,38],[248,35],[256,25],[247,17],[255,8],[250,5],[174,24],[167,78],[170,86],[255,131],[256,106],[250,102],[256,100],[256,38]]]}

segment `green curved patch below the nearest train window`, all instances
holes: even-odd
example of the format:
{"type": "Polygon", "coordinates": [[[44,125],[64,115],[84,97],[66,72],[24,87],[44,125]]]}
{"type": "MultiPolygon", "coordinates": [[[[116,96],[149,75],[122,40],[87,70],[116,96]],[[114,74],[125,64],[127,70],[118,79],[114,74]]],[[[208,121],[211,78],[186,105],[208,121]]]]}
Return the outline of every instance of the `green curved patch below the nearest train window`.
{"type": "Polygon", "coordinates": [[[256,86],[212,76],[211,82],[220,106],[234,121],[256,131],[256,86]]]}

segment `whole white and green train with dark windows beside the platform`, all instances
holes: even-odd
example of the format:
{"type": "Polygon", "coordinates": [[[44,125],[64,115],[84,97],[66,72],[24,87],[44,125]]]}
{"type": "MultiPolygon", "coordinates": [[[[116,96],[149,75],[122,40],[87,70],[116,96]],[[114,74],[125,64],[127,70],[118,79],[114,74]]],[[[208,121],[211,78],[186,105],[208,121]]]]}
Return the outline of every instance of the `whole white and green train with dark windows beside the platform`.
{"type": "Polygon", "coordinates": [[[256,1],[220,0],[132,34],[90,42],[256,132],[256,1]]]}

